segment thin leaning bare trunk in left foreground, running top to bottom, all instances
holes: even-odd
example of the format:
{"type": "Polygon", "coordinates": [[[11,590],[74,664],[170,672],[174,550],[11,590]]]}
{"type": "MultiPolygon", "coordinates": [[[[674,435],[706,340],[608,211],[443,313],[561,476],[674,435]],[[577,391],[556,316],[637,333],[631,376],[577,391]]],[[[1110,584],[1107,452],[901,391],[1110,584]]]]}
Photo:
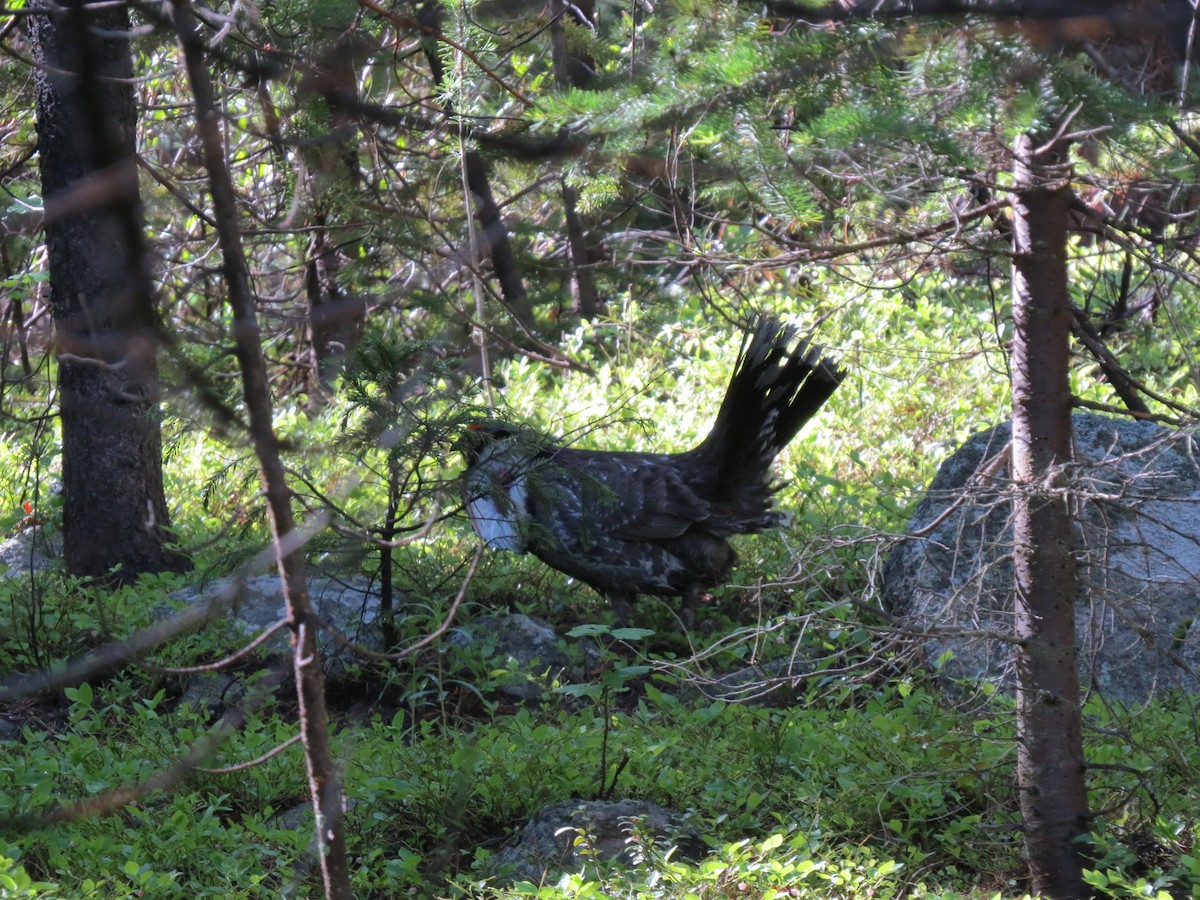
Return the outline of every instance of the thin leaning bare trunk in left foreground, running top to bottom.
{"type": "Polygon", "coordinates": [[[222,272],[233,311],[234,352],[241,366],[250,436],[262,472],[276,563],[288,606],[296,696],[300,706],[300,732],[316,817],[317,862],[320,865],[325,896],[329,900],[350,900],[353,893],[346,858],[342,786],[329,740],[325,676],[317,646],[319,626],[308,599],[301,554],[302,541],[292,515],[292,491],[283,470],[283,461],[280,458],[280,443],[275,436],[270,383],[266,377],[266,361],[263,358],[250,268],[246,264],[241,234],[238,229],[236,197],[226,162],[220,114],[214,101],[205,48],[197,30],[196,17],[187,0],[175,1],[174,14],[196,101],[196,120],[204,145],[209,186],[212,191],[222,272]]]}

